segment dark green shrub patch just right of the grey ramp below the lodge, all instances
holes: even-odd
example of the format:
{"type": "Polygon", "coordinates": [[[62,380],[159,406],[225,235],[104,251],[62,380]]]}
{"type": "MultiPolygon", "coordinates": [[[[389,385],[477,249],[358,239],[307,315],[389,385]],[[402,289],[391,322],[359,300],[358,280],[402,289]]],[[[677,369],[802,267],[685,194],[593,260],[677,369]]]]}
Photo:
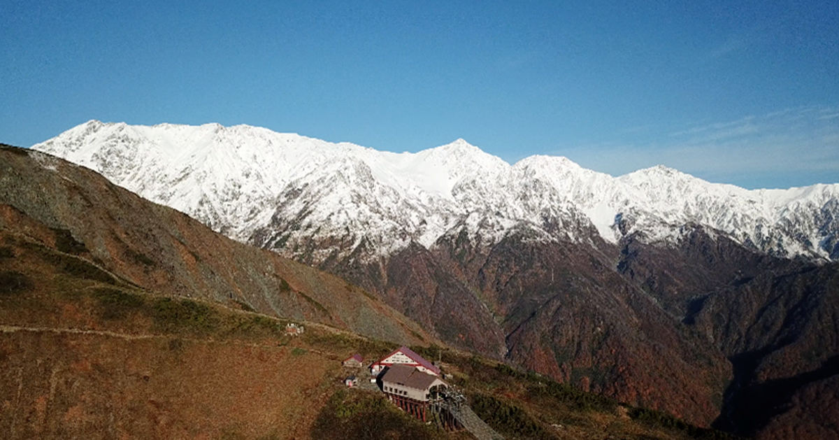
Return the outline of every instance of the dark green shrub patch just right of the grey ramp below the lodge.
{"type": "Polygon", "coordinates": [[[472,411],[489,426],[513,438],[554,438],[526,411],[491,395],[470,395],[472,411]]]}

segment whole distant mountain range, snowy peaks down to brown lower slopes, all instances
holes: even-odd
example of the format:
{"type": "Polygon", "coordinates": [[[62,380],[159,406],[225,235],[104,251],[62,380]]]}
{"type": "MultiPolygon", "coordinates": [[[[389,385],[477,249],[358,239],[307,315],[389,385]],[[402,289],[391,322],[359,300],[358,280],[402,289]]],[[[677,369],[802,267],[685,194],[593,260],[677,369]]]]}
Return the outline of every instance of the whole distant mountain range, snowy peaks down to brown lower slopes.
{"type": "Polygon", "coordinates": [[[839,408],[839,185],[217,124],[91,121],[33,149],[340,275],[452,345],[730,432],[839,435],[819,422],[839,408]]]}

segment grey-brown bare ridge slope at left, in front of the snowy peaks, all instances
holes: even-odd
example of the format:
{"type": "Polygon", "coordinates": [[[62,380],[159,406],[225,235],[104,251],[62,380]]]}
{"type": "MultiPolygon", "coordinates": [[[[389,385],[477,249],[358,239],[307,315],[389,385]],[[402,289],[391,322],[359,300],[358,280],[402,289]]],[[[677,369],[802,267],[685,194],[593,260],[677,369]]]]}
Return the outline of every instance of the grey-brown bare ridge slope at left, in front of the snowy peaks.
{"type": "Polygon", "coordinates": [[[0,149],[0,228],[168,295],[238,304],[400,343],[431,341],[421,327],[340,278],[234,242],[43,153],[0,149]]]}

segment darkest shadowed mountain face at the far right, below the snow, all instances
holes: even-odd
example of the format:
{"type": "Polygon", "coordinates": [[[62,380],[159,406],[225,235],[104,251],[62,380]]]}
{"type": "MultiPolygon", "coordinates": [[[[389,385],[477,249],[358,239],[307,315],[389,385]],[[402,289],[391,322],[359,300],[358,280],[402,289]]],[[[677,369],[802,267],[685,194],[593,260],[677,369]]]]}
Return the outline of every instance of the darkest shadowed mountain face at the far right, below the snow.
{"type": "Polygon", "coordinates": [[[839,435],[826,422],[839,412],[839,265],[754,254],[695,230],[675,249],[628,240],[619,268],[730,360],[715,427],[839,435]]]}

